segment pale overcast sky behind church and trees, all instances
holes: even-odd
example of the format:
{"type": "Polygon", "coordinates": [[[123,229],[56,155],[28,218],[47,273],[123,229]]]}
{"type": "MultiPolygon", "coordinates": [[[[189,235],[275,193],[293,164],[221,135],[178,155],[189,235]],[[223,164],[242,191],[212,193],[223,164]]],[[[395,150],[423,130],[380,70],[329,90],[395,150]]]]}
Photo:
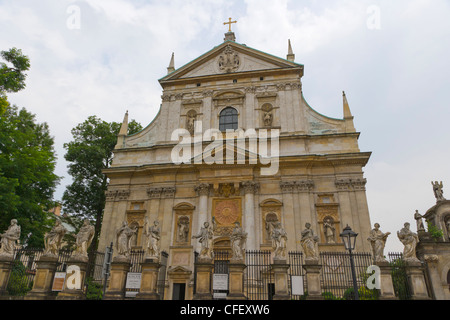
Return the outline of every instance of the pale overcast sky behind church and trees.
{"type": "MultiPolygon", "coordinates": [[[[291,39],[305,66],[303,93],[342,118],[345,90],[365,167],[372,225],[396,232],[435,204],[431,181],[450,192],[450,2],[448,0],[0,0],[0,50],[31,59],[27,87],[9,100],[47,122],[55,137],[55,194],[71,182],[63,144],[88,116],[144,127],[158,112],[172,52],[179,68],[223,42],[285,58],[291,39]],[[447,188],[446,188],[447,186],[447,188]]],[[[449,198],[450,199],[450,198],[449,198]]]]}

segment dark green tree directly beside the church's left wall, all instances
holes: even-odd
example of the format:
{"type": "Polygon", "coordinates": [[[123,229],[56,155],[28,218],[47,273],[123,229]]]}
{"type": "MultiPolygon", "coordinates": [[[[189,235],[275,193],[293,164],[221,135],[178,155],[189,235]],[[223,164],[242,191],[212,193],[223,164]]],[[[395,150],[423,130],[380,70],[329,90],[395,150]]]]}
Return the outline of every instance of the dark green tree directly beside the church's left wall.
{"type": "MultiPolygon", "coordinates": [[[[70,215],[95,221],[94,248],[97,247],[108,186],[102,170],[111,165],[120,127],[120,123],[90,116],[72,129],[73,140],[64,144],[67,150],[64,158],[69,162],[68,172],[73,182],[64,191],[63,209],[70,215]]],[[[142,126],[134,120],[128,124],[128,134],[141,130],[142,126]]]]}

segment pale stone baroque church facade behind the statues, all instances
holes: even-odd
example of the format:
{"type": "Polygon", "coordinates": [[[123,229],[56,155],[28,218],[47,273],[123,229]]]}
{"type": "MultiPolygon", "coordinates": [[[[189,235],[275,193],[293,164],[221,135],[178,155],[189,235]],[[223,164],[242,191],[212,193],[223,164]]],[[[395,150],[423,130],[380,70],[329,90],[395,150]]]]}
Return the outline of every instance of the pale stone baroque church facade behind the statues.
{"type": "Polygon", "coordinates": [[[205,222],[215,250],[231,249],[239,222],[246,250],[272,250],[271,229],[281,223],[287,250],[302,251],[309,223],[319,251],[343,251],[339,234],[349,225],[359,233],[356,250],[370,252],[363,168],[371,153],[359,149],[345,93],[343,118],[326,117],[306,102],[303,73],[290,42],[284,59],[236,42],[231,31],[178,69],[172,56],[154,120],[128,136],[124,118],[104,171],[99,248],[115,242],[124,221],[137,230],[133,248],[143,248],[144,223],[157,220],[169,288],[192,281],[193,236],[205,222]]]}

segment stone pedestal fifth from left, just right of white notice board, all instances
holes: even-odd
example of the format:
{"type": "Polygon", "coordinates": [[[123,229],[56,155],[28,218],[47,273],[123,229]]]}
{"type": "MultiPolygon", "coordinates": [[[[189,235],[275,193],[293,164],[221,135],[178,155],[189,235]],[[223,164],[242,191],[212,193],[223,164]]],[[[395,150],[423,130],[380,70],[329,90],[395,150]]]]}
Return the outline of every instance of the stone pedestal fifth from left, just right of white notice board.
{"type": "Polygon", "coordinates": [[[137,300],[160,300],[158,289],[158,274],[161,264],[157,259],[145,259],[142,265],[141,288],[136,295],[137,300]]]}

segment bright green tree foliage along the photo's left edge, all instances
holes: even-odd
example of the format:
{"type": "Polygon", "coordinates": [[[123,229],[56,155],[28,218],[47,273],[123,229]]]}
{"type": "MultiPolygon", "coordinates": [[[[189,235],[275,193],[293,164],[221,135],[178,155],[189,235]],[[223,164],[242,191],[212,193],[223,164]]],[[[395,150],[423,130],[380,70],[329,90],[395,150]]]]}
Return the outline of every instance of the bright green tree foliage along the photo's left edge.
{"type": "Polygon", "coordinates": [[[7,93],[25,88],[30,61],[21,50],[1,51],[0,62],[0,231],[15,218],[22,239],[42,246],[47,210],[59,178],[54,174],[56,155],[46,123],[36,123],[25,108],[11,106],[7,93]]]}

